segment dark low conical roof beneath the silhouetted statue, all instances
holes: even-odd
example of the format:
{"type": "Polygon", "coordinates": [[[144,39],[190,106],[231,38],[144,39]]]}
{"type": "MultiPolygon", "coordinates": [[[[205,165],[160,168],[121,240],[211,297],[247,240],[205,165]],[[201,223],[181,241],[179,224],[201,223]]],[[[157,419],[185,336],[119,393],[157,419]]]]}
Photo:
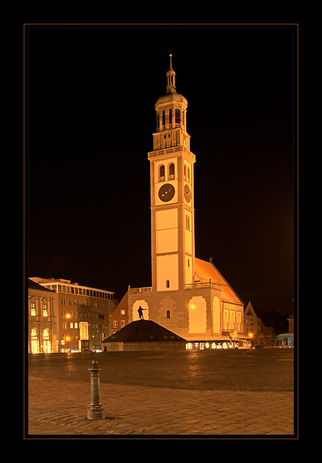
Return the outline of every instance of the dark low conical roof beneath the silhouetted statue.
{"type": "Polygon", "coordinates": [[[175,333],[152,322],[137,320],[116,331],[102,342],[147,342],[147,341],[185,341],[175,333]]]}

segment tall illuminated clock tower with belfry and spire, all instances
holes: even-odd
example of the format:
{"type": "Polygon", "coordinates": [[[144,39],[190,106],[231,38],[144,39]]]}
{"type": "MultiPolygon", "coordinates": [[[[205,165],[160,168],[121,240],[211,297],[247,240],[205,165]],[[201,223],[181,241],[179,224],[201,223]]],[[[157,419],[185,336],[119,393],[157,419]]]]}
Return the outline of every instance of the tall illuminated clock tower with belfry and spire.
{"type": "Polygon", "coordinates": [[[155,103],[156,131],[148,153],[151,185],[152,292],[183,290],[194,276],[194,195],[187,100],[176,91],[176,73],[166,75],[155,103]]]}

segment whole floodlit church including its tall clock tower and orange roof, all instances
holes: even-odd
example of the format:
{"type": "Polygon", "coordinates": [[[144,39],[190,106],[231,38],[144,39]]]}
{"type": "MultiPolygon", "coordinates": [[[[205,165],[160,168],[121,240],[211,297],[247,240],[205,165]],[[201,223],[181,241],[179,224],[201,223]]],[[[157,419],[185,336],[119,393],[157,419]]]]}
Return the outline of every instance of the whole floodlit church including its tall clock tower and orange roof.
{"type": "Polygon", "coordinates": [[[195,257],[194,162],[187,133],[187,100],[167,72],[155,103],[156,131],[150,161],[151,275],[149,288],[127,293],[129,323],[145,319],[187,341],[227,339],[243,329],[244,303],[212,263],[195,257]]]}

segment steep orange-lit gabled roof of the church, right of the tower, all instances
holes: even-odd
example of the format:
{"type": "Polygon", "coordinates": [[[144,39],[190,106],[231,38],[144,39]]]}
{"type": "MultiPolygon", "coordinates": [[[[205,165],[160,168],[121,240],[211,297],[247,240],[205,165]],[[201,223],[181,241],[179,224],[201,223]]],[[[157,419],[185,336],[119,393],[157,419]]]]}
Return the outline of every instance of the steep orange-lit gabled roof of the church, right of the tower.
{"type": "Polygon", "coordinates": [[[221,297],[224,301],[242,304],[244,302],[239,299],[234,290],[227,283],[222,274],[217,270],[212,262],[206,262],[195,258],[195,274],[201,282],[207,282],[211,279],[213,283],[221,283],[221,297]]]}

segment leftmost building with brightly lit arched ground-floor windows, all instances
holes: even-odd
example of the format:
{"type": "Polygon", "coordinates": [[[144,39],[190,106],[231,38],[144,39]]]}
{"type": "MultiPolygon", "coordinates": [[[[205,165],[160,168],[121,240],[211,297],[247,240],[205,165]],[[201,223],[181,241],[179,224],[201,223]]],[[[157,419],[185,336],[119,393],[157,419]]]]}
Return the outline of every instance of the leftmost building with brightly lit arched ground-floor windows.
{"type": "Polygon", "coordinates": [[[28,280],[28,353],[57,352],[58,295],[28,280]]]}

